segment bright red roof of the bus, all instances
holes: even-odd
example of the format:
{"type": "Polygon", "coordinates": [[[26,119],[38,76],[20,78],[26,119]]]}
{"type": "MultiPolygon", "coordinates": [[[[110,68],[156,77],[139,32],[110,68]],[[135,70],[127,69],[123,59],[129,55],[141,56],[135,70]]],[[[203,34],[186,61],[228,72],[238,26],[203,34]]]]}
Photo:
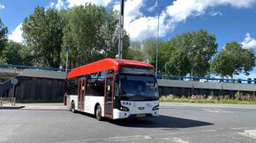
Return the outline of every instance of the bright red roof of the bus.
{"type": "Polygon", "coordinates": [[[68,73],[67,78],[78,77],[80,75],[89,75],[109,69],[114,69],[114,71],[117,72],[119,66],[121,65],[154,68],[152,65],[146,62],[107,58],[101,61],[89,63],[79,68],[73,68],[72,71],[68,73]]]}

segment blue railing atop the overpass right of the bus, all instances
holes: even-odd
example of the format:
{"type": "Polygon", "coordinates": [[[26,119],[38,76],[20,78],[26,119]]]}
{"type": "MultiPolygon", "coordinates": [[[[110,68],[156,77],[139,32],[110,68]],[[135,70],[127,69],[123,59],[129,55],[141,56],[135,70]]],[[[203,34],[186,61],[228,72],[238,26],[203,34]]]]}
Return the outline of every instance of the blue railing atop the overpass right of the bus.
{"type": "Polygon", "coordinates": [[[155,75],[157,79],[169,79],[179,81],[197,81],[197,82],[230,82],[230,83],[248,83],[252,82],[256,84],[256,78],[254,80],[248,79],[226,79],[226,78],[213,78],[213,77],[188,77],[188,76],[169,76],[169,75],[155,75]]]}

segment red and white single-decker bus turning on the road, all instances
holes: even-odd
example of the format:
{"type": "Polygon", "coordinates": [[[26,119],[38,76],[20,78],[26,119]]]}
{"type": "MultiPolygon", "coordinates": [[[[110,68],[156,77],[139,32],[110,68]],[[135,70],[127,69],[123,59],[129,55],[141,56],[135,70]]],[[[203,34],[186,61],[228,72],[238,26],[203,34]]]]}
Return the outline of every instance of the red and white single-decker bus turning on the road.
{"type": "Polygon", "coordinates": [[[146,62],[103,59],[67,74],[64,105],[102,118],[159,116],[154,67],[146,62]]]}

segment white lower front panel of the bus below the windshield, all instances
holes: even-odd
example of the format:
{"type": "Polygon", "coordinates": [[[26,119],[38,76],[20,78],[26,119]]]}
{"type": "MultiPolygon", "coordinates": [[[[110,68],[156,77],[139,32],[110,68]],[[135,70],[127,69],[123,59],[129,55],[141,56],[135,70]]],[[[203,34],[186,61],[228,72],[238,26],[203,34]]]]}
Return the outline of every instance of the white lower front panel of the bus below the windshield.
{"type": "Polygon", "coordinates": [[[129,111],[113,110],[113,119],[117,118],[144,118],[150,115],[151,117],[159,116],[159,110],[153,108],[159,105],[159,101],[121,101],[121,105],[129,109],[129,111]]]}

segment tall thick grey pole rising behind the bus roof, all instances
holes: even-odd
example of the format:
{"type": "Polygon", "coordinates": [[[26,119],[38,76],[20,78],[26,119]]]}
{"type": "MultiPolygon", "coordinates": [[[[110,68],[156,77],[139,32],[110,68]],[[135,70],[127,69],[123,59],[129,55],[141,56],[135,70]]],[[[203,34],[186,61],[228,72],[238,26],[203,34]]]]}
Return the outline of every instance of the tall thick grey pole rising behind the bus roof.
{"type": "Polygon", "coordinates": [[[124,0],[120,0],[118,59],[122,59],[124,42],[124,0]]]}

